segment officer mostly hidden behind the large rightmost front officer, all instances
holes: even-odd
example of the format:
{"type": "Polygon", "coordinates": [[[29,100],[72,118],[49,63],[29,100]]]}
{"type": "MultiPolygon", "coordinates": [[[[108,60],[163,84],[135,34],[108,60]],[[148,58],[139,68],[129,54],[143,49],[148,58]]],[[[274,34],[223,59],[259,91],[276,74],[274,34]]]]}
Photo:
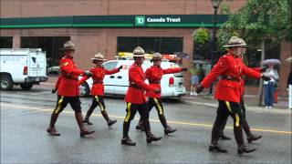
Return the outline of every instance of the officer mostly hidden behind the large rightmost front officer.
{"type": "MultiPolygon", "coordinates": [[[[242,38],[239,38],[240,41],[241,41],[241,52],[240,52],[240,57],[241,57],[241,62],[244,62],[243,61],[243,56],[245,54],[245,50],[246,50],[246,43],[245,43],[245,40],[242,39],[242,38]]],[[[251,68],[252,70],[256,71],[256,72],[265,72],[266,71],[266,67],[253,67],[251,68]]],[[[241,98],[240,98],[240,107],[242,108],[242,111],[243,111],[243,115],[244,115],[244,120],[243,120],[243,128],[245,130],[245,134],[246,134],[246,137],[247,137],[247,141],[250,143],[252,141],[255,141],[259,138],[262,138],[262,136],[259,136],[259,135],[255,135],[251,132],[251,129],[249,128],[249,125],[247,123],[247,120],[246,120],[246,109],[245,109],[245,101],[244,101],[244,96],[245,96],[245,78],[244,77],[241,77],[241,90],[240,90],[240,93],[241,93],[241,98]]],[[[220,138],[222,139],[230,139],[226,136],[224,136],[224,132],[222,131],[222,134],[220,135],[220,138]]]]}

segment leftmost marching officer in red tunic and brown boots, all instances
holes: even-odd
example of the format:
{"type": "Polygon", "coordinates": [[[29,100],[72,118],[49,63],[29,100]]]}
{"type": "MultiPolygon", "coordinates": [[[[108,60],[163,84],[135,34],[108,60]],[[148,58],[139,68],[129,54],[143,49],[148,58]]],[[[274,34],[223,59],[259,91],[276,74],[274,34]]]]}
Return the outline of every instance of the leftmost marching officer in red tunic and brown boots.
{"type": "Polygon", "coordinates": [[[60,60],[61,75],[57,82],[57,106],[54,109],[47,133],[52,136],[60,136],[55,128],[58,115],[67,107],[68,103],[75,111],[75,117],[80,128],[80,137],[94,133],[83,124],[81,102],[79,100],[78,76],[90,76],[89,71],[78,69],[73,61],[75,46],[71,41],[64,44],[65,56],[60,60]]]}

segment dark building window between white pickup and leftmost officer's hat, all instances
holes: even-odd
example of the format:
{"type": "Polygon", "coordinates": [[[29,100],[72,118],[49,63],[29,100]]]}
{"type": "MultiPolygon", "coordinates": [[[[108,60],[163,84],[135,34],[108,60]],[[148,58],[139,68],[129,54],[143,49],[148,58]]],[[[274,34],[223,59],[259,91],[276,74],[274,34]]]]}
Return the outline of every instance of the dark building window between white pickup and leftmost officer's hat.
{"type": "Polygon", "coordinates": [[[47,54],[47,67],[57,66],[63,56],[60,48],[70,40],[69,36],[23,36],[20,38],[22,48],[42,48],[47,54]]]}

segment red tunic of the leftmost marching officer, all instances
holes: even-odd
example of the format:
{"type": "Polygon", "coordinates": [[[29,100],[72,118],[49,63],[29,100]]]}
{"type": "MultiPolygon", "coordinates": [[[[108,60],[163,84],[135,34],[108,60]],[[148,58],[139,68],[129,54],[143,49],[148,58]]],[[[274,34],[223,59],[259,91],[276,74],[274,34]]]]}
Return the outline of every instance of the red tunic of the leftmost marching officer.
{"type": "Polygon", "coordinates": [[[73,61],[73,57],[65,56],[60,60],[61,75],[58,79],[57,95],[65,97],[78,97],[78,76],[84,74],[83,70],[78,69],[73,61]]]}

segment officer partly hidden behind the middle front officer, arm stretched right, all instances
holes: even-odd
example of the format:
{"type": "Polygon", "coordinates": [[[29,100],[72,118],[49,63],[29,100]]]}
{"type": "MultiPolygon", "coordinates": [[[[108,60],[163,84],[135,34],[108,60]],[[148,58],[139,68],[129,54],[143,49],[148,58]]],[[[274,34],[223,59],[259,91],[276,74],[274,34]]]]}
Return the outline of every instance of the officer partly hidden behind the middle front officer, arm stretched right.
{"type": "MultiPolygon", "coordinates": [[[[154,53],[151,61],[153,62],[153,66],[149,67],[146,70],[145,75],[149,81],[150,86],[158,88],[160,90],[162,89],[161,80],[162,80],[162,76],[164,74],[173,74],[173,73],[181,72],[182,70],[183,71],[187,70],[187,68],[180,68],[180,67],[162,69],[162,67],[161,67],[162,55],[160,53],[154,53]]],[[[161,93],[154,93],[151,90],[147,90],[146,97],[149,97],[148,103],[147,103],[148,108],[149,108],[149,112],[151,111],[151,109],[153,107],[155,107],[157,110],[158,117],[161,120],[162,126],[164,128],[164,134],[173,133],[174,131],[176,131],[176,129],[171,128],[167,125],[166,118],[164,116],[163,106],[162,106],[162,94],[161,93]]],[[[141,129],[142,131],[144,130],[142,128],[142,119],[141,118],[140,118],[138,125],[136,126],[136,129],[141,129]]]]}

